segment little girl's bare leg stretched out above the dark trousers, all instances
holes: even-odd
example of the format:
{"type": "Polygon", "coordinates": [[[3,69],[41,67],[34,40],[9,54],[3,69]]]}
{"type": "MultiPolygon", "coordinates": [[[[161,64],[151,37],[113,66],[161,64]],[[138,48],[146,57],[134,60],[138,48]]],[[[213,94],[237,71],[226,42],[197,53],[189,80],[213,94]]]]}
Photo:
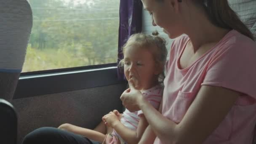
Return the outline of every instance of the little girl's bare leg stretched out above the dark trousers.
{"type": "MultiPolygon", "coordinates": [[[[105,125],[103,125],[103,126],[105,126],[105,125]]],[[[93,131],[88,128],[78,127],[78,126],[68,124],[68,123],[60,125],[59,129],[62,129],[65,131],[70,131],[72,133],[79,134],[81,136],[85,136],[88,139],[92,139],[94,141],[103,142],[105,139],[105,134],[103,134],[103,133],[100,133],[98,131],[93,131]]]]}

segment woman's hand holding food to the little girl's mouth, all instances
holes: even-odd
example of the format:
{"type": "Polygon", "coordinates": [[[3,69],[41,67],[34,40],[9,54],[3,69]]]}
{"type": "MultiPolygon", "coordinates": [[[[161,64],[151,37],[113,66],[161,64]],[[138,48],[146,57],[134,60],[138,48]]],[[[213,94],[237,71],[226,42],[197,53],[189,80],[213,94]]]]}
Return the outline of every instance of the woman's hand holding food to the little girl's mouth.
{"type": "Polygon", "coordinates": [[[139,90],[134,88],[133,77],[129,80],[129,86],[127,90],[123,92],[120,99],[123,101],[123,106],[128,109],[130,112],[135,112],[140,110],[139,105],[145,100],[139,90]]]}

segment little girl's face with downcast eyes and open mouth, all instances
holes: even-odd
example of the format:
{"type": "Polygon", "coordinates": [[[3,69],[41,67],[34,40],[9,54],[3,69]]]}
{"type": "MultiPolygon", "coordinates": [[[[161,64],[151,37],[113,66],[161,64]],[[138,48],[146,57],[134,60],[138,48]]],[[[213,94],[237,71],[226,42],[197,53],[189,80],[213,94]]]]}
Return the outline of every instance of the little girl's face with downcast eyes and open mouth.
{"type": "Polygon", "coordinates": [[[124,53],[124,72],[127,80],[134,80],[135,88],[147,90],[158,82],[159,68],[152,53],[138,45],[128,45],[124,53]]]}

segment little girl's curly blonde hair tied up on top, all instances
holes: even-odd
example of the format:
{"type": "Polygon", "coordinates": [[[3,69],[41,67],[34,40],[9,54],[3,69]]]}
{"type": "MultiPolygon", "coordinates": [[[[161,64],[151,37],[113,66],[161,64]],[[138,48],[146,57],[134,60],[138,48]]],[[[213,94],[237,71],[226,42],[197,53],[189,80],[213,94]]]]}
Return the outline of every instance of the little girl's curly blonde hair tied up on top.
{"type": "MultiPolygon", "coordinates": [[[[158,75],[158,81],[162,83],[165,78],[164,67],[167,57],[166,41],[163,37],[158,36],[157,31],[153,32],[152,35],[143,33],[131,35],[123,46],[123,55],[125,55],[125,49],[131,45],[136,45],[138,48],[148,49],[152,53],[156,64],[161,68],[161,73],[158,75]]],[[[119,62],[119,67],[123,68],[123,66],[124,59],[119,62]]]]}

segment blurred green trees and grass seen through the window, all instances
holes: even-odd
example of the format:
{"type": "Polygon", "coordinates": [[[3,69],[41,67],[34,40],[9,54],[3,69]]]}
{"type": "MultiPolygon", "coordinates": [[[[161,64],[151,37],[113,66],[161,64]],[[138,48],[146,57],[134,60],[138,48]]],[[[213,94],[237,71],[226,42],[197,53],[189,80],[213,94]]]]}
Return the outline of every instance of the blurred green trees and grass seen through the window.
{"type": "Polygon", "coordinates": [[[32,33],[22,72],[115,63],[119,0],[29,0],[32,33]]]}

